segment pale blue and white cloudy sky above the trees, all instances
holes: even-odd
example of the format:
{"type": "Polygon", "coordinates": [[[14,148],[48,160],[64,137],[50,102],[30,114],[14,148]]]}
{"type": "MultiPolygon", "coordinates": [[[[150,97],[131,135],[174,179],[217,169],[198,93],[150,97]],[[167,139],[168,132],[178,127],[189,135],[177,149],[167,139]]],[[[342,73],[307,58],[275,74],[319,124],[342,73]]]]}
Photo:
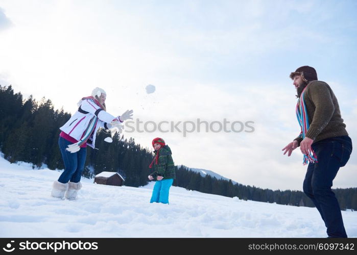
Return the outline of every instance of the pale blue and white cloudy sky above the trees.
{"type": "MultiPolygon", "coordinates": [[[[289,74],[317,70],[355,141],[356,11],[355,1],[0,0],[0,84],[70,113],[101,87],[109,113],[133,109],[127,125],[142,122],[124,137],[148,148],[162,137],[175,164],[302,190],[301,152],[281,151],[300,133],[289,74]]],[[[352,152],[334,188],[357,187],[356,174],[352,152]]]]}

